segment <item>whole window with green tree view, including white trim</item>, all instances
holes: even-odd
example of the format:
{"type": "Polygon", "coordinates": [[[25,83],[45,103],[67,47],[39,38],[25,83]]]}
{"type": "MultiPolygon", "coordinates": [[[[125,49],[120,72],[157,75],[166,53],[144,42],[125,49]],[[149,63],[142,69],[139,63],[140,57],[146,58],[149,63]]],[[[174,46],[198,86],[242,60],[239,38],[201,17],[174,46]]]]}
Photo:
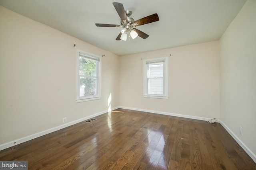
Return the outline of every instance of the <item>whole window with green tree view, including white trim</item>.
{"type": "Polygon", "coordinates": [[[100,57],[78,51],[77,102],[100,99],[100,57]]]}

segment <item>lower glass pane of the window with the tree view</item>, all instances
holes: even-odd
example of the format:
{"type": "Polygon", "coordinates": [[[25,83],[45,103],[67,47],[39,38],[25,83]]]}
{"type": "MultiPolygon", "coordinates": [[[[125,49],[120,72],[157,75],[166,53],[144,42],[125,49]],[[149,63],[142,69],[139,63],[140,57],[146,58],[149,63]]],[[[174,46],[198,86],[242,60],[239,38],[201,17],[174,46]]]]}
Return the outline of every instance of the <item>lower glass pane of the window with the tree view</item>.
{"type": "Polygon", "coordinates": [[[96,95],[97,79],[80,76],[79,97],[96,95]]]}

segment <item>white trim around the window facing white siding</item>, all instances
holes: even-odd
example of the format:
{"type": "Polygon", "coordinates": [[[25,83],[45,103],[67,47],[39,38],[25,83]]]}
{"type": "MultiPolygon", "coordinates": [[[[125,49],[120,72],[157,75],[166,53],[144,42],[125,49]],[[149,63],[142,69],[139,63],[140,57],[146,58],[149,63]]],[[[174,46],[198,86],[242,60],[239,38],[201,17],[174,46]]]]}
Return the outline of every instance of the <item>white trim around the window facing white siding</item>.
{"type": "Polygon", "coordinates": [[[156,59],[146,59],[143,61],[143,67],[144,67],[144,81],[143,81],[143,96],[144,98],[160,98],[160,99],[168,99],[169,98],[169,92],[168,92],[168,57],[162,57],[162,58],[156,58],[156,59]],[[148,94],[148,79],[147,79],[147,62],[154,62],[154,61],[160,61],[164,60],[164,84],[163,84],[163,90],[164,94],[163,95],[158,95],[158,94],[148,94]]]}

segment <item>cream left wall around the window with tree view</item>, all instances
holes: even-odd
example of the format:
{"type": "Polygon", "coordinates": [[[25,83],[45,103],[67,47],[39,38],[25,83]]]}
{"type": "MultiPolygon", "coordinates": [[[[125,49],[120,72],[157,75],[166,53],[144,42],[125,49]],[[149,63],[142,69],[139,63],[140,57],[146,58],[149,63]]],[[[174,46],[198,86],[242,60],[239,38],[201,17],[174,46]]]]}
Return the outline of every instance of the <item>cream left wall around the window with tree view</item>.
{"type": "Polygon", "coordinates": [[[0,25],[0,145],[118,107],[117,55],[2,6],[0,25]],[[105,55],[101,100],[76,103],[77,49],[105,55]]]}

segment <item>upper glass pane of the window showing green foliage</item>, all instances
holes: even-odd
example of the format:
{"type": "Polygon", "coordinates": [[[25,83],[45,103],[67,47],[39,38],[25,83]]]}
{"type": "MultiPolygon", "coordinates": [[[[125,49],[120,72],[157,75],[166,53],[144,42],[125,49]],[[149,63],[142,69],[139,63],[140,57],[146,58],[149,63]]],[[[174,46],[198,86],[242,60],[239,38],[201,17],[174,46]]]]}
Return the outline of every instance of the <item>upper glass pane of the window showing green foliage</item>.
{"type": "Polygon", "coordinates": [[[79,74],[86,76],[96,76],[97,61],[79,57],[79,74]]]}

